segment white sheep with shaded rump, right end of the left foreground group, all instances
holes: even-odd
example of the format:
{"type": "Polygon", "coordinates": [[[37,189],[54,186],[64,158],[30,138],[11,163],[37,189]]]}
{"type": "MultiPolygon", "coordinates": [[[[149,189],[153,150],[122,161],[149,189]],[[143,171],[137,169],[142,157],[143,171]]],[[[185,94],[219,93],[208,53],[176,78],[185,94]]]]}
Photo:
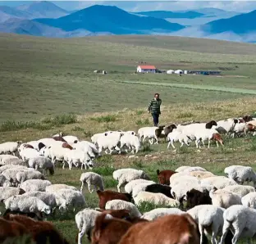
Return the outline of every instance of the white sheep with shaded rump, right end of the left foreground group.
{"type": "Polygon", "coordinates": [[[73,208],[74,211],[75,208],[84,208],[86,205],[85,197],[79,191],[62,188],[53,194],[62,197],[66,201],[66,207],[73,208]]]}

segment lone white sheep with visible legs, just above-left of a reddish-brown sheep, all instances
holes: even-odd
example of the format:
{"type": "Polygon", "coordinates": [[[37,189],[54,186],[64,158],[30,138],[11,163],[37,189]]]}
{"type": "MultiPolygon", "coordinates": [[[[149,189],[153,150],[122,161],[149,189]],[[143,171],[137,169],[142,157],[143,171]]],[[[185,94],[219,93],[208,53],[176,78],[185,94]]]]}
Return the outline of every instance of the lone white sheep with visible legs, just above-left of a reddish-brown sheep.
{"type": "Polygon", "coordinates": [[[81,174],[80,182],[82,183],[80,192],[83,192],[85,183],[87,183],[90,193],[94,192],[94,188],[95,191],[97,191],[98,189],[100,191],[104,191],[103,178],[99,174],[96,174],[94,172],[86,172],[81,174]]]}

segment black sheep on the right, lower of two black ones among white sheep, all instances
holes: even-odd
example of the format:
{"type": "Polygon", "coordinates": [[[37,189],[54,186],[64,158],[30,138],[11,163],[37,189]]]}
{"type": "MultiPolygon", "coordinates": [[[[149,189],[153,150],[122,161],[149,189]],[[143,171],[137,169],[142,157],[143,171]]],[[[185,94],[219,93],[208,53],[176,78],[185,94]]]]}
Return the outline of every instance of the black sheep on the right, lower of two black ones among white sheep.
{"type": "Polygon", "coordinates": [[[191,209],[194,206],[213,204],[208,190],[200,192],[194,188],[189,192],[186,192],[186,197],[184,200],[186,201],[186,207],[188,209],[191,209]]]}

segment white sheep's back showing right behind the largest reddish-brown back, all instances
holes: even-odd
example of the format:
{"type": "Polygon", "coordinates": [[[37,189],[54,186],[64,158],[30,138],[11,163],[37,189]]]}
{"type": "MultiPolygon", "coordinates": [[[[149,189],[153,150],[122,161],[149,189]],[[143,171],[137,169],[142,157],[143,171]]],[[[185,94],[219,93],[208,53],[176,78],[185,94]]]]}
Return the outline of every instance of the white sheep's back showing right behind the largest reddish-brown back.
{"type": "Polygon", "coordinates": [[[166,215],[181,215],[181,214],[185,214],[185,212],[177,208],[170,208],[170,209],[158,208],[158,209],[154,209],[144,213],[144,215],[141,216],[141,219],[147,219],[149,221],[152,221],[154,219],[158,219],[166,215]]]}

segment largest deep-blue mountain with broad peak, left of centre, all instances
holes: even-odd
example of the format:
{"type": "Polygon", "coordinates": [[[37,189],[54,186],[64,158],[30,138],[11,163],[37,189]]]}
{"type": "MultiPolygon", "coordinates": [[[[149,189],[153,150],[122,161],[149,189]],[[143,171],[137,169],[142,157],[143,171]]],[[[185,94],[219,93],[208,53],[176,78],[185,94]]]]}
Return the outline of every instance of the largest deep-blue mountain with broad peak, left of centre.
{"type": "Polygon", "coordinates": [[[170,33],[185,28],[183,25],[149,16],[136,16],[118,7],[94,5],[58,19],[35,19],[43,25],[65,31],[86,29],[90,32],[112,34],[170,33]]]}

